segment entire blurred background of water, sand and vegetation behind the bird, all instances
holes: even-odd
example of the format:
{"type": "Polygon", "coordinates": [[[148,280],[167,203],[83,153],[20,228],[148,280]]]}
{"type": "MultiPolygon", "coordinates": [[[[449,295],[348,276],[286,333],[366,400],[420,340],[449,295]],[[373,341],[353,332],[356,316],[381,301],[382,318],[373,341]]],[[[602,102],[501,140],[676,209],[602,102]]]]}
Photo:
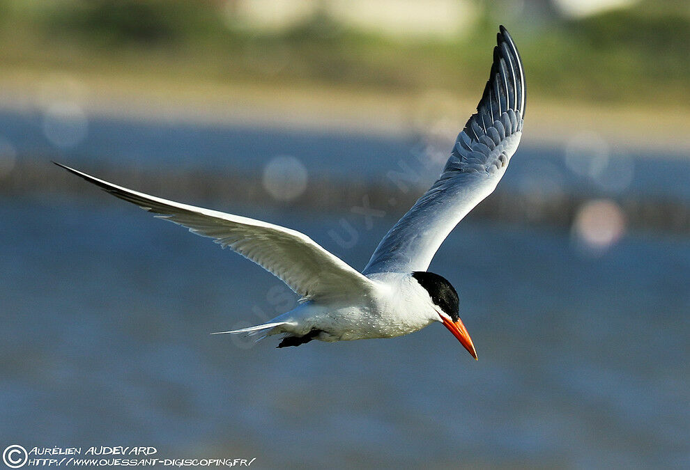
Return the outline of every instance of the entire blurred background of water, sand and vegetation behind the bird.
{"type": "Polygon", "coordinates": [[[690,6],[0,1],[0,445],[252,467],[690,467],[690,6]],[[505,24],[521,147],[430,270],[445,329],[209,336],[296,297],[50,163],[295,228],[362,269],[505,24]]]}

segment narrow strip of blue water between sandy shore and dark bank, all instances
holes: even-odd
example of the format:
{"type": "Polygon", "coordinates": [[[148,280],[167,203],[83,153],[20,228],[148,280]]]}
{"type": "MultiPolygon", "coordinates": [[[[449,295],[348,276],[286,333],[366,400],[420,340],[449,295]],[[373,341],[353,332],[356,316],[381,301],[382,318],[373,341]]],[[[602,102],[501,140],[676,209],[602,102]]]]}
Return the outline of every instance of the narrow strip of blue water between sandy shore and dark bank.
{"type": "MultiPolygon", "coordinates": [[[[411,169],[420,175],[421,188],[428,187],[443,167],[442,162],[429,164],[424,150],[431,148],[445,161],[455,137],[447,136],[447,142],[438,143],[425,136],[394,138],[91,116],[84,139],[59,148],[45,136],[43,123],[40,113],[0,109],[0,140],[10,143],[22,159],[56,159],[86,171],[107,163],[148,170],[202,169],[260,175],[272,157],[291,155],[300,159],[310,176],[374,184],[387,180],[389,171],[411,169]]],[[[611,155],[597,178],[577,164],[568,166],[565,148],[523,145],[498,190],[690,201],[687,155],[671,152],[673,158],[669,158],[666,150],[650,155],[620,150],[616,142],[608,145],[611,155]]]]}

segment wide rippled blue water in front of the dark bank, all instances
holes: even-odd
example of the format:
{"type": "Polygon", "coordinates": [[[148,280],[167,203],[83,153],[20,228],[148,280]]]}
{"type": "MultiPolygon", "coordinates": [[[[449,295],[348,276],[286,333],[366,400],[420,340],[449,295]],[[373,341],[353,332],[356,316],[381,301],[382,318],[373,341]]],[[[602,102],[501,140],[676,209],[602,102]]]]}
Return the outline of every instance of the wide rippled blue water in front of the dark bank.
{"type": "MultiPolygon", "coordinates": [[[[227,210],[361,268],[394,217],[227,210]],[[329,235],[350,220],[358,241],[329,235]]],[[[690,467],[690,240],[463,223],[431,270],[480,361],[443,327],[275,349],[211,331],[295,297],[247,260],[103,196],[0,200],[0,436],[155,446],[252,467],[690,467]]],[[[243,323],[244,322],[244,323],[243,323]]]]}

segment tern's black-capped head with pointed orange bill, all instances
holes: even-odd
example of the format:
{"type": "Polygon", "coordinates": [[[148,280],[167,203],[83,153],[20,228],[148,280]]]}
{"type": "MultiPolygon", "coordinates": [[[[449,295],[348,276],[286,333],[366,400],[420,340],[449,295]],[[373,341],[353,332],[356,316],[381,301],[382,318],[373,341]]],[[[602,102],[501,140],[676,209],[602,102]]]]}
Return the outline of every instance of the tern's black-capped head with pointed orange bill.
{"type": "Polygon", "coordinates": [[[472,354],[472,357],[477,359],[475,345],[460,320],[460,299],[452,284],[443,276],[433,272],[415,271],[412,276],[429,294],[434,310],[438,313],[438,318],[434,320],[442,322],[443,326],[450,330],[453,336],[458,338],[460,344],[472,354]]]}

